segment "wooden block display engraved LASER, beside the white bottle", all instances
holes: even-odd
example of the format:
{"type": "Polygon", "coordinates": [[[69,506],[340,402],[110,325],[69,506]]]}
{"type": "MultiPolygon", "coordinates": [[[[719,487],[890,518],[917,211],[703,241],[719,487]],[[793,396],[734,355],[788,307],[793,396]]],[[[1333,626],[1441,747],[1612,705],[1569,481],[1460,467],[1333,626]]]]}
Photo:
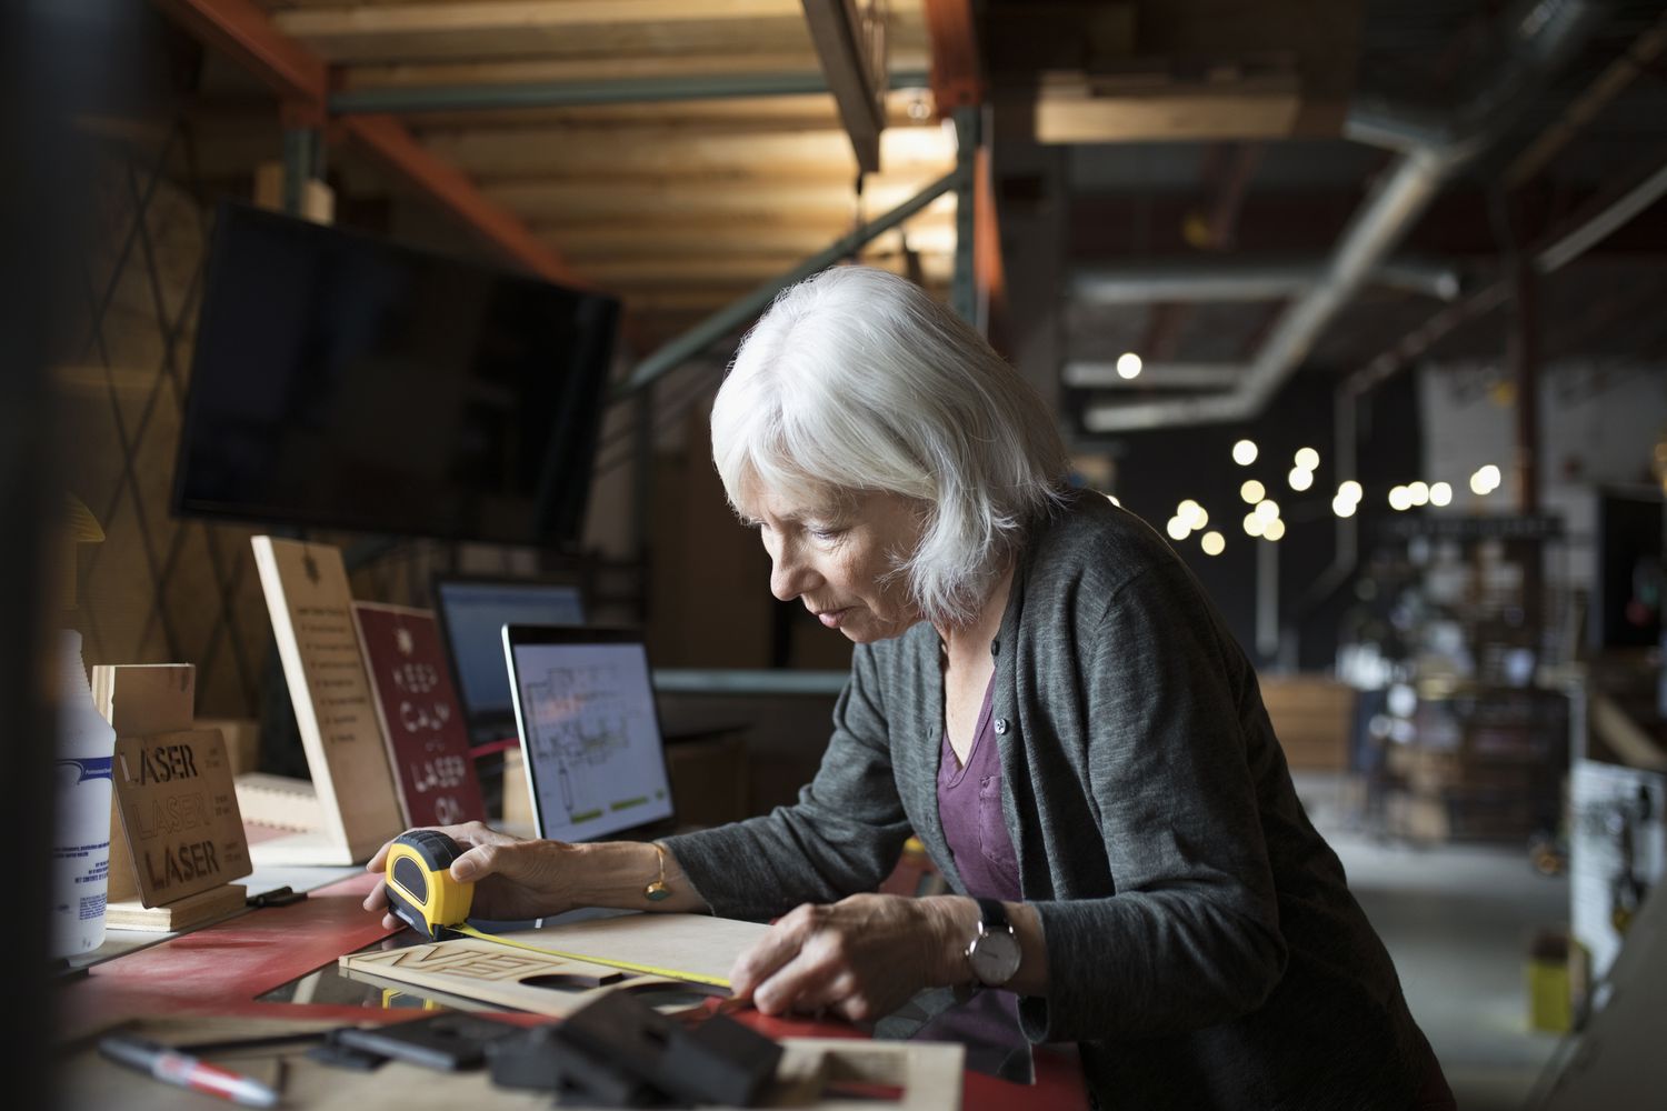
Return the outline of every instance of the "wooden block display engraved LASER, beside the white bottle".
{"type": "MultiPolygon", "coordinates": [[[[92,685],[98,713],[115,728],[117,756],[143,746],[150,736],[192,730],[197,670],[188,663],[95,666],[92,685]]],[[[225,741],[213,730],[193,736],[200,740],[190,745],[190,761],[193,766],[200,765],[200,776],[177,778],[172,790],[160,780],[132,785],[125,781],[122,765],[113,765],[110,888],[105,906],[105,921],[112,929],[188,929],[243,906],[243,884],[227,883],[247,876],[250,861],[225,741]],[[162,806],[160,818],[155,811],[147,815],[150,805],[162,806]],[[203,811],[210,816],[218,811],[218,818],[202,828],[205,836],[198,838],[213,846],[218,878],[208,879],[208,873],[203,873],[197,883],[173,884],[168,883],[167,861],[162,861],[163,883],[147,888],[143,854],[155,854],[162,844],[157,839],[158,823],[173,823],[183,830],[182,823],[195,823],[203,811]],[[150,836],[142,836],[142,825],[130,813],[147,815],[143,828],[150,830],[150,836]]],[[[143,771],[138,775],[143,778],[143,771]]]]}

